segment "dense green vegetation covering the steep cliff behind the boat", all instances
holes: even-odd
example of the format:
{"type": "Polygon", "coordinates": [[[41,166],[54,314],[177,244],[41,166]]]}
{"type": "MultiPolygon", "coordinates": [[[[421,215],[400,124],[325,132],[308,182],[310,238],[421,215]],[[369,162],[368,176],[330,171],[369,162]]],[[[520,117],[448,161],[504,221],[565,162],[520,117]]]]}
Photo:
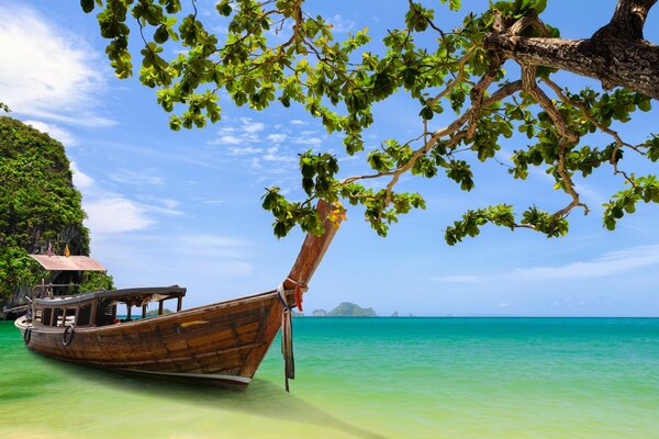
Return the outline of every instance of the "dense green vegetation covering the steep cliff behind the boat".
{"type": "MultiPolygon", "coordinates": [[[[0,297],[41,278],[27,256],[89,255],[89,230],[80,192],[74,187],[64,146],[33,127],[0,116],[0,297]]],[[[112,286],[111,278],[92,274],[83,283],[112,286]]]]}

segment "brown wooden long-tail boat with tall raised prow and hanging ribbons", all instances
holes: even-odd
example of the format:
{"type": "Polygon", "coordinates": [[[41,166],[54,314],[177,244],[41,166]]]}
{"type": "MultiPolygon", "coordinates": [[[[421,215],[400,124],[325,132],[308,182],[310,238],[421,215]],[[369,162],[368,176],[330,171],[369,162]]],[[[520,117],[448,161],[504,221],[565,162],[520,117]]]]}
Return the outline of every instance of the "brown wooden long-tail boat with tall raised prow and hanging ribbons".
{"type": "Polygon", "coordinates": [[[178,285],[46,296],[34,299],[31,315],[15,326],[30,349],[55,359],[239,389],[249,384],[282,327],[288,390],[288,379],[294,378],[291,307],[297,302],[300,307],[340,221],[332,204],[321,201],[317,210],[325,233],[306,236],[278,289],[191,309],[181,309],[186,289],[178,285]],[[177,301],[177,312],[163,315],[167,300],[177,301]],[[149,302],[159,304],[160,315],[133,319],[132,307],[142,306],[145,317],[149,302]],[[121,322],[118,304],[129,311],[121,322]]]}

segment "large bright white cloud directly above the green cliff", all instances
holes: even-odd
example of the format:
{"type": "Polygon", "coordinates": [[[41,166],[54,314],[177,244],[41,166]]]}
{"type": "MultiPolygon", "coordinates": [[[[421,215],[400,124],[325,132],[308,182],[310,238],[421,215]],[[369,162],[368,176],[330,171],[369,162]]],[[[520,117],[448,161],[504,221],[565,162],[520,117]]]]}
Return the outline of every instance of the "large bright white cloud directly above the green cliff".
{"type": "Polygon", "coordinates": [[[83,40],[24,5],[0,7],[0,16],[11,18],[0,21],[0,95],[13,112],[85,126],[114,123],[93,114],[104,81],[83,40]]]}

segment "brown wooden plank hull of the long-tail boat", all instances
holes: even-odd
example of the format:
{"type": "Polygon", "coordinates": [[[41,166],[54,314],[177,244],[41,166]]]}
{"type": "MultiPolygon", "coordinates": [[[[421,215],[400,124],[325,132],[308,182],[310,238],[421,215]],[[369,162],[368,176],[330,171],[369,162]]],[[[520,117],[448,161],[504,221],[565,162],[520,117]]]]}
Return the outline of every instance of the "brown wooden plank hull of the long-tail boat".
{"type": "Polygon", "coordinates": [[[245,389],[281,326],[281,312],[277,292],[268,292],[154,318],[77,327],[72,337],[65,337],[63,327],[32,326],[25,318],[15,325],[30,349],[58,360],[245,389]]]}

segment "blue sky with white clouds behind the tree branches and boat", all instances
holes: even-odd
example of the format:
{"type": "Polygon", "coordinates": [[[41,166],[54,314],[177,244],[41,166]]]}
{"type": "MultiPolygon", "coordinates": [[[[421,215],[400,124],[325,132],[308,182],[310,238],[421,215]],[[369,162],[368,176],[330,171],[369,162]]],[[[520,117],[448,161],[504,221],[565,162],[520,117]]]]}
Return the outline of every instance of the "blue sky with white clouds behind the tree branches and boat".
{"type": "MultiPolygon", "coordinates": [[[[202,18],[219,34],[225,32],[212,15],[213,2],[199,3],[202,18]]],[[[325,3],[310,4],[331,18],[339,37],[369,26],[378,41],[401,25],[406,2],[378,2],[377,9],[369,1],[325,3]]],[[[463,3],[466,9],[484,4],[463,3]]],[[[572,38],[591,35],[615,5],[613,0],[549,3],[543,19],[572,38]]],[[[457,15],[436,9],[438,22],[449,27],[457,15]]],[[[367,170],[362,154],[346,157],[340,138],[299,108],[255,112],[223,98],[222,122],[170,132],[154,90],[136,78],[114,78],[98,23],[78,1],[3,1],[0,15],[0,101],[12,116],[65,144],[89,216],[92,256],[119,286],[178,283],[188,288],[187,306],[272,289],[288,274],[303,236],[273,237],[271,217],[260,209],[264,188],[279,185],[299,195],[297,154],[310,147],[337,154],[345,177],[367,170]]],[[[646,37],[654,42],[657,20],[652,11],[646,37]]],[[[599,87],[567,74],[557,78],[599,87]]],[[[418,133],[418,110],[402,95],[379,104],[370,147],[418,133]]],[[[440,126],[449,116],[434,122],[440,126]]],[[[618,128],[629,142],[641,142],[659,131],[658,116],[654,109],[618,128]]],[[[507,160],[524,142],[504,143],[499,158],[507,160]]],[[[656,165],[628,161],[629,170],[657,173],[656,165]]],[[[568,202],[541,169],[526,182],[513,181],[496,164],[478,164],[474,172],[477,188],[470,193],[442,178],[403,179],[399,189],[421,191],[428,207],[402,217],[386,239],[362,221],[359,209],[348,211],[311,282],[305,311],[350,301],[379,315],[659,316],[659,210],[644,204],[616,232],[606,232],[601,204],[622,187],[611,169],[579,182],[592,212],[572,213],[566,238],[487,228],[448,247],[444,228],[467,209],[505,202],[520,211],[533,203],[555,210],[568,202]]]]}

